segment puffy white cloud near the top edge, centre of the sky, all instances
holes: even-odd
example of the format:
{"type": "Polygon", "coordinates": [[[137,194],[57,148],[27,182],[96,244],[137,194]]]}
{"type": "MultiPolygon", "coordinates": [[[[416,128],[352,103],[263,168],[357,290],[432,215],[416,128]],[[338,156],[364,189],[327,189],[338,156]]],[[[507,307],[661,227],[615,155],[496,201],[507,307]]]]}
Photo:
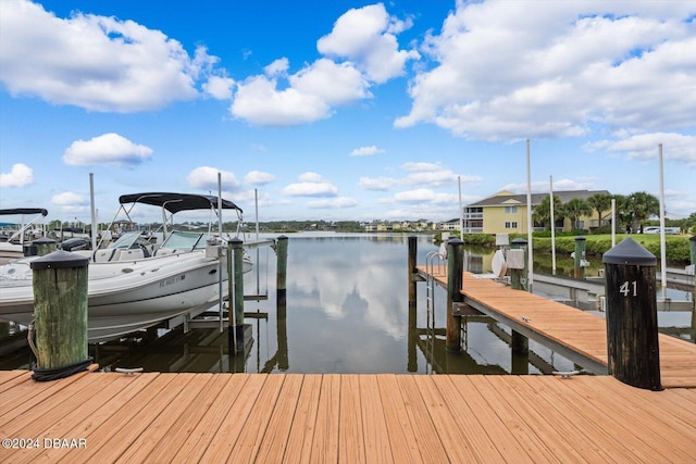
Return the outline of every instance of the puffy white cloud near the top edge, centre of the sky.
{"type": "Polygon", "coordinates": [[[381,84],[402,75],[406,61],[420,57],[414,50],[399,50],[395,34],[408,27],[410,23],[389,16],[382,3],[351,9],[336,21],[331,34],[319,39],[316,48],[325,55],[355,62],[381,84]]]}

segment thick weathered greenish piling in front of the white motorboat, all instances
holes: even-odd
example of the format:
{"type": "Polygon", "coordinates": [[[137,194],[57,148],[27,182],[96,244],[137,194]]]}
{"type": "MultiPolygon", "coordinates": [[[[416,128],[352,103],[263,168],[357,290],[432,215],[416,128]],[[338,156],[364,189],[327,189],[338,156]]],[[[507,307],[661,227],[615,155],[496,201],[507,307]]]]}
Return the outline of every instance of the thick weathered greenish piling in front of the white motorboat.
{"type": "Polygon", "coordinates": [[[67,377],[89,365],[88,264],[89,259],[62,250],[32,262],[37,380],[67,377]]]}

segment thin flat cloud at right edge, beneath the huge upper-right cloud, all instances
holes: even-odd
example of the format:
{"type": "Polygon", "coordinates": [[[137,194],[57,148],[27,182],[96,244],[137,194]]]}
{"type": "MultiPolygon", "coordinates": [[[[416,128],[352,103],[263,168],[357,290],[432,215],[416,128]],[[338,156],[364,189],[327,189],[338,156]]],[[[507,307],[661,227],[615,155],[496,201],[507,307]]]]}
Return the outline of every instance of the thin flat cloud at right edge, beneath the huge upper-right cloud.
{"type": "Polygon", "coordinates": [[[664,160],[696,165],[696,137],[675,133],[631,135],[621,140],[600,140],[585,145],[587,151],[625,153],[629,158],[650,160],[658,158],[658,145],[662,143],[664,160]]]}

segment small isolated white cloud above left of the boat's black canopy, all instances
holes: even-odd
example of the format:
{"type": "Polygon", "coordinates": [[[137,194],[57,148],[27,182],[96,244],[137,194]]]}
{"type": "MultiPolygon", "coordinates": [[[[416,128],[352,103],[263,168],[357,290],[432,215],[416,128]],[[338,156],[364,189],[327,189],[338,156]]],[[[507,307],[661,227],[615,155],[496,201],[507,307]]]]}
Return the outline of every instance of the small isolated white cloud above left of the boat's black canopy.
{"type": "Polygon", "coordinates": [[[90,140],[76,140],[63,153],[70,165],[90,166],[108,164],[117,167],[135,166],[150,159],[152,149],[110,133],[90,140]]]}

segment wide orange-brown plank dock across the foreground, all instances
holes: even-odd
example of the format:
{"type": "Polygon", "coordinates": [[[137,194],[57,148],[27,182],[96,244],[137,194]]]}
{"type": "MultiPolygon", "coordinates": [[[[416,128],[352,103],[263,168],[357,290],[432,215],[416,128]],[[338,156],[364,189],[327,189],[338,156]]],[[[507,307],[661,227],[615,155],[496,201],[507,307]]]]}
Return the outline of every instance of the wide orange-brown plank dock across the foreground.
{"type": "Polygon", "coordinates": [[[609,376],[86,372],[36,383],[5,371],[0,435],[25,440],[0,449],[15,464],[686,463],[696,390],[609,376]]]}

